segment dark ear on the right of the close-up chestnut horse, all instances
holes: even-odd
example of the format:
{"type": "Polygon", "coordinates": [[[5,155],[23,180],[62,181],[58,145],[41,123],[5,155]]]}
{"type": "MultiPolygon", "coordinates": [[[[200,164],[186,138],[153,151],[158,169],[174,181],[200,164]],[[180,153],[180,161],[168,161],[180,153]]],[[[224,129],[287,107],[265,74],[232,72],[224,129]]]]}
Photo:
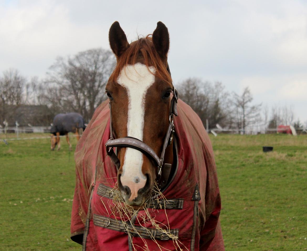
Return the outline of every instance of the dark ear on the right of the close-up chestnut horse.
{"type": "Polygon", "coordinates": [[[153,32],[153,46],[162,59],[167,58],[169,51],[169,31],[162,22],[157,22],[157,28],[153,32]]]}

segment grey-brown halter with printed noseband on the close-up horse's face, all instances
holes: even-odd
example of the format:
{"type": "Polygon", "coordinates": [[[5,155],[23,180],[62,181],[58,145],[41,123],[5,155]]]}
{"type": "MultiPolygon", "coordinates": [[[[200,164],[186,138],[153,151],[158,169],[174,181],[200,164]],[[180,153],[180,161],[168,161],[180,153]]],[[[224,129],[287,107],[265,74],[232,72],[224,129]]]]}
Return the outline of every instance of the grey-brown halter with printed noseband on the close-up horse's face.
{"type": "MultiPolygon", "coordinates": [[[[167,71],[170,73],[169,70],[169,65],[167,65],[167,71]]],[[[143,141],[133,138],[133,137],[123,137],[123,138],[118,138],[114,139],[113,138],[113,129],[112,129],[112,110],[111,110],[111,103],[109,104],[110,107],[110,139],[106,142],[106,149],[107,149],[107,154],[110,156],[112,162],[116,166],[117,169],[120,167],[120,161],[117,155],[115,154],[113,148],[114,147],[130,147],[134,148],[136,150],[139,150],[140,152],[146,154],[147,157],[150,157],[154,163],[156,164],[158,168],[158,177],[157,177],[157,182],[159,183],[161,179],[161,173],[162,173],[162,166],[164,162],[164,154],[165,154],[165,149],[168,145],[173,140],[173,134],[174,134],[174,124],[173,124],[173,115],[178,116],[177,113],[177,102],[178,102],[178,92],[173,86],[173,98],[171,100],[171,105],[170,105],[170,111],[169,111],[169,126],[166,131],[165,139],[164,139],[164,144],[161,152],[161,157],[159,158],[157,153],[148,145],[146,145],[143,141]]],[[[171,165],[170,164],[164,164],[164,167],[170,170],[171,165]]],[[[169,170],[167,173],[169,173],[169,170]]],[[[168,177],[167,177],[168,178],[168,177]]],[[[166,178],[166,179],[167,179],[166,178]]],[[[166,181],[164,181],[166,183],[166,181]]],[[[163,184],[166,185],[166,184],[163,184]]]]}

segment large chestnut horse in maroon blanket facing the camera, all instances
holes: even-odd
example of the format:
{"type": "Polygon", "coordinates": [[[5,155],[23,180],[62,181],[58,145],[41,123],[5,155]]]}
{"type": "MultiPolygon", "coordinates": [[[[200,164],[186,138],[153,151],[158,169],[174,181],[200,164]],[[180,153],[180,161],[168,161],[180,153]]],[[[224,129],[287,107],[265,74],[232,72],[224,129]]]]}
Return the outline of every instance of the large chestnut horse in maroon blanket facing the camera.
{"type": "Polygon", "coordinates": [[[224,250],[212,145],[173,86],[169,32],[109,30],[108,100],[76,146],[71,239],[83,250],[224,250]]]}

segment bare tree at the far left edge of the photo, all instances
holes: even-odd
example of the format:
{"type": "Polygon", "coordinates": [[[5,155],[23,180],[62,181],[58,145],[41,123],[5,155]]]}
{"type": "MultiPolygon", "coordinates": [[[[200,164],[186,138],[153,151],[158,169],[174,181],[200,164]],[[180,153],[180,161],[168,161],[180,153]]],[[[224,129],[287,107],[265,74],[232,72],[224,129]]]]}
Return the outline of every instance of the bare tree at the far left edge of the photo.
{"type": "Polygon", "coordinates": [[[0,78],[0,120],[5,121],[8,114],[8,106],[17,108],[23,102],[23,89],[25,78],[18,70],[10,69],[3,72],[0,78]]]}

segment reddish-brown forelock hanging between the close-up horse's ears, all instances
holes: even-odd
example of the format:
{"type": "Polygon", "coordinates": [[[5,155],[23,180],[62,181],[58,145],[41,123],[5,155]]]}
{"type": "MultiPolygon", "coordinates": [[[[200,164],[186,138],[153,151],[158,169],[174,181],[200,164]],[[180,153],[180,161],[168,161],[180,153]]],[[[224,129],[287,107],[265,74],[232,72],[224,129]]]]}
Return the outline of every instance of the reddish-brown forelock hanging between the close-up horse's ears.
{"type": "MultiPolygon", "coordinates": [[[[112,72],[109,81],[115,83],[123,67],[129,64],[134,65],[138,59],[142,58],[149,71],[149,66],[151,66],[151,63],[156,69],[156,73],[154,75],[172,84],[172,78],[167,71],[164,62],[161,60],[159,54],[155,50],[150,36],[151,34],[147,35],[146,38],[139,38],[138,40],[130,43],[128,49],[118,59],[117,65],[112,72]]],[[[151,73],[153,74],[153,72],[151,73]]]]}

